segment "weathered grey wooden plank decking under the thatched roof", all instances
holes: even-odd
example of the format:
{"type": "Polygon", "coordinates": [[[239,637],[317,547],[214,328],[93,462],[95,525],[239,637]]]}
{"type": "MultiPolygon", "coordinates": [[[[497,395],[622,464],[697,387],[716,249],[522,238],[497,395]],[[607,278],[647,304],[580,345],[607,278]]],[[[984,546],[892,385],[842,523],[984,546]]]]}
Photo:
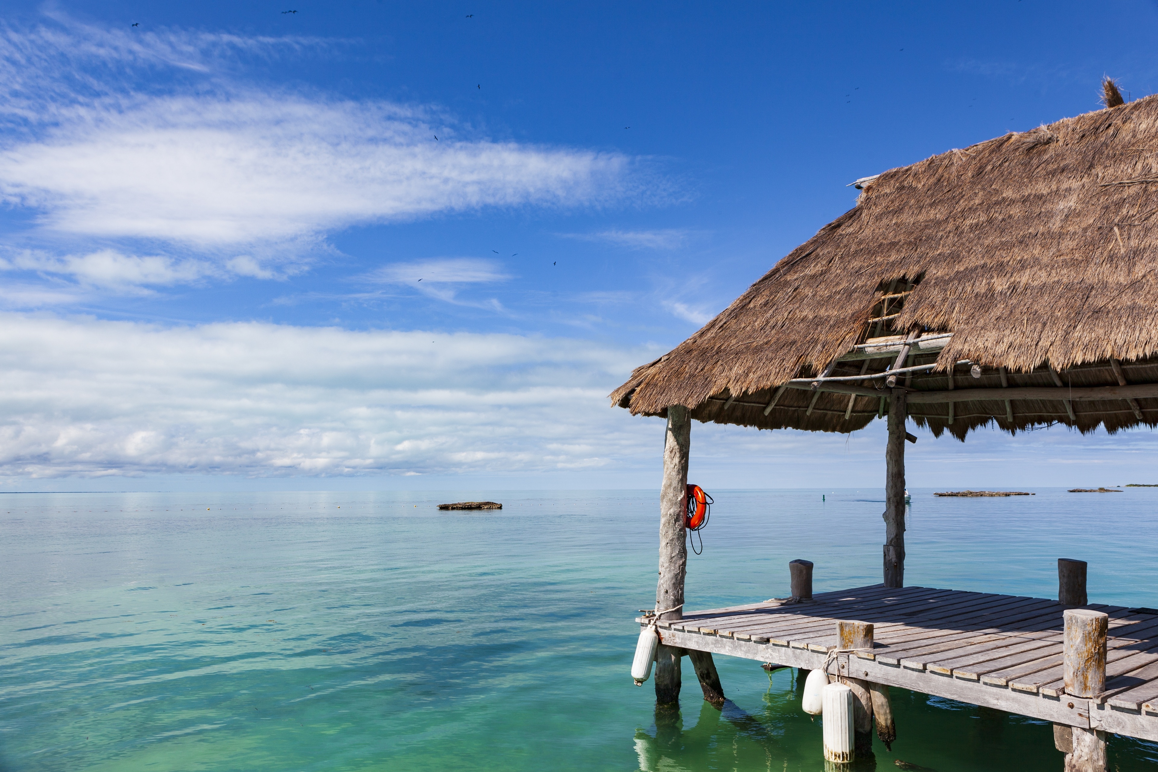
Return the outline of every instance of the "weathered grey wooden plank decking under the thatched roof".
{"type": "MultiPolygon", "coordinates": [[[[1158,741],[1158,610],[1092,603],[1109,615],[1106,692],[1065,694],[1057,601],[882,584],[661,622],[668,646],[818,669],[836,620],[873,623],[873,650],[837,654],[850,676],[1057,723],[1158,741]]],[[[639,622],[644,622],[639,619],[639,622]]]]}

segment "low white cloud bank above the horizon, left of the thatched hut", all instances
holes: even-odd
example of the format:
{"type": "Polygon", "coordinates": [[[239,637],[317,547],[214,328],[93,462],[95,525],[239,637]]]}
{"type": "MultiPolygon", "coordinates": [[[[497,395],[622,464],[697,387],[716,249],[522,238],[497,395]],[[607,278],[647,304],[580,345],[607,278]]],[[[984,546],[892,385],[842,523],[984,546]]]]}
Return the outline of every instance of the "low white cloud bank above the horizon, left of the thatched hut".
{"type": "Polygon", "coordinates": [[[0,476],[600,468],[654,444],[606,399],[654,355],[512,334],[0,314],[0,476]]]}

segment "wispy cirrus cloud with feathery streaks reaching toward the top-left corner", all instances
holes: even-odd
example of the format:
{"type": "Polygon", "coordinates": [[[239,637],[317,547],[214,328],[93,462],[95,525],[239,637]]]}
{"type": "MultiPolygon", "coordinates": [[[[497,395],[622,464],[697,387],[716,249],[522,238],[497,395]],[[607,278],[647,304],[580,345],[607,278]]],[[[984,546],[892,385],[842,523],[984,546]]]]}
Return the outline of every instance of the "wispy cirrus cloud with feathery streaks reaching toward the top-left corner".
{"type": "Polygon", "coordinates": [[[277,277],[351,226],[600,206],[657,182],[624,154],[498,141],[432,105],[270,94],[240,74],[239,63],[337,44],[66,17],[0,28],[0,201],[36,223],[9,245],[57,255],[64,277],[80,275],[71,255],[102,249],[125,256],[126,282],[133,260],[145,282],[200,263],[212,265],[201,279],[277,277]],[[157,72],[169,76],[137,88],[157,72]],[[146,253],[157,259],[132,257],[146,253]]]}

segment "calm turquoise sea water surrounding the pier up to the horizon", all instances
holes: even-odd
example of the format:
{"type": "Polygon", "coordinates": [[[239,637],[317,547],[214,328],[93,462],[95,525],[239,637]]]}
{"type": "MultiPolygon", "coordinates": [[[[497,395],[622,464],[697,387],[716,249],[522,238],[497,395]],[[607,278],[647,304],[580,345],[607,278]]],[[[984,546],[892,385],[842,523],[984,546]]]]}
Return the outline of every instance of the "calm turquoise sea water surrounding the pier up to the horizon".
{"type": "MultiPolygon", "coordinates": [[[[1158,488],[911,490],[907,582],[1158,606],[1158,488]]],[[[688,605],[879,581],[882,492],[712,491],[688,605]],[[827,501],[821,501],[821,495],[827,501]]],[[[654,602],[653,492],[8,494],[0,771],[821,770],[793,672],[717,657],[730,698],[654,714],[629,676],[654,602]],[[488,498],[501,513],[439,513],[488,498]]],[[[895,759],[1061,770],[1048,725],[894,690],[895,759]]],[[[1158,748],[1111,741],[1111,769],[1158,748]]],[[[870,763],[858,769],[873,769],[870,763]]]]}

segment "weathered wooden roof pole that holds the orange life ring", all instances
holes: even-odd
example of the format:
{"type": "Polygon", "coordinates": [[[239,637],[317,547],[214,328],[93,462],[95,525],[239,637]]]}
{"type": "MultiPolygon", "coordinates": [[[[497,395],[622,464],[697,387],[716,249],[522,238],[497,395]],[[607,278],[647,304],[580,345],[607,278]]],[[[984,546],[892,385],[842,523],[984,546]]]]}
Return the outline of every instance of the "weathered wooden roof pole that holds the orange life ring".
{"type": "MultiPolygon", "coordinates": [[[[664,480],[659,490],[659,582],[655,610],[660,619],[683,618],[683,578],[688,572],[687,519],[688,451],[691,418],[683,405],[667,409],[664,442],[664,480]]],[[[655,654],[655,701],[680,700],[682,649],[660,644],[655,654]]]]}

